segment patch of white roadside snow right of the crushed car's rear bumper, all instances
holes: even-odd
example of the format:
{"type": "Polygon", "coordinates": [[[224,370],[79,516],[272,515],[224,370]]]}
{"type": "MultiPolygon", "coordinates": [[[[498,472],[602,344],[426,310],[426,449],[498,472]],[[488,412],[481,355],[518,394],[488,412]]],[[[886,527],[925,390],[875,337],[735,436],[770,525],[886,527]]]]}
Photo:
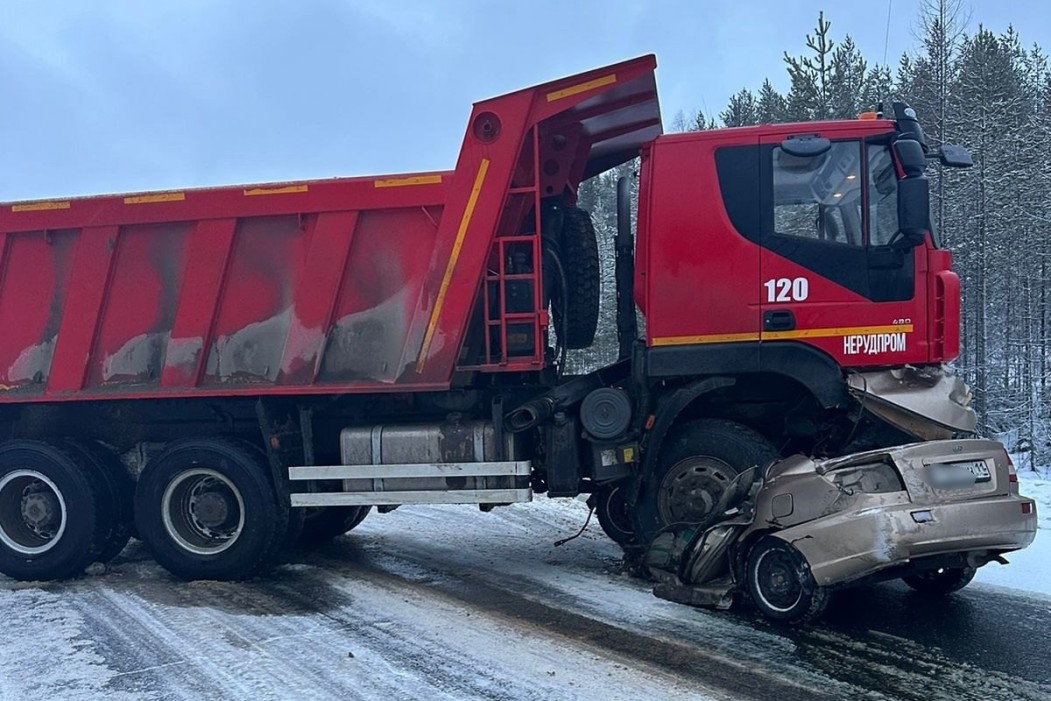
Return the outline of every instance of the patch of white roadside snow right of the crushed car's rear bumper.
{"type": "Polygon", "coordinates": [[[1006,566],[995,562],[985,565],[974,581],[1051,596],[1051,478],[1047,471],[1018,471],[1022,494],[1036,501],[1038,531],[1033,544],[1008,553],[1005,557],[1010,564],[1006,566]]]}

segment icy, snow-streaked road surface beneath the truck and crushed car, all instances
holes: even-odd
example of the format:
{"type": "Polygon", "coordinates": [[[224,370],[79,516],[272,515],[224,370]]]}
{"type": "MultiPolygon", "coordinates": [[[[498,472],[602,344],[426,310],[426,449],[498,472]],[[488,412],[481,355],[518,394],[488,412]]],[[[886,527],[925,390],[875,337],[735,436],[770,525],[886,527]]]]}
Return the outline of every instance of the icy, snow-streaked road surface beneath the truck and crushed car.
{"type": "Polygon", "coordinates": [[[0,699],[1051,698],[1047,596],[891,583],[785,630],[653,597],[594,522],[552,545],[585,515],[405,508],[241,583],[138,543],[100,576],[0,577],[0,699]]]}

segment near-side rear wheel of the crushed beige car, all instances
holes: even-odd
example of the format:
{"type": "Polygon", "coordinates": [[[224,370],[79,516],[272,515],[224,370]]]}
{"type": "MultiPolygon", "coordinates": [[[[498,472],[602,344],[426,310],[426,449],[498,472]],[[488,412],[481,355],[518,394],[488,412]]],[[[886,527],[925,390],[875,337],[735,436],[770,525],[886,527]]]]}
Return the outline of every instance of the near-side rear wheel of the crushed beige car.
{"type": "Polygon", "coordinates": [[[767,618],[805,623],[824,613],[828,590],[818,586],[806,559],[789,543],[766,536],[748,554],[748,593],[767,618]]]}

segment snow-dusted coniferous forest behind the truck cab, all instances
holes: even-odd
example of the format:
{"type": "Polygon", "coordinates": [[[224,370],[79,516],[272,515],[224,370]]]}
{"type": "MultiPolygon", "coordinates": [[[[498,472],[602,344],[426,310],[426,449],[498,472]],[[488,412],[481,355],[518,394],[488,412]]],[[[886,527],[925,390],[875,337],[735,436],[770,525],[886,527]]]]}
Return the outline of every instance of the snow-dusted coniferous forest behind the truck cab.
{"type": "MultiPolygon", "coordinates": [[[[677,114],[668,131],[822,119],[854,119],[892,101],[915,108],[931,148],[970,149],[974,166],[928,167],[931,220],[963,286],[961,355],[978,430],[1009,449],[1051,457],[1051,66],[1014,28],[995,34],[961,0],[925,0],[915,47],[895,65],[862,55],[821,14],[801,49],[784,55],[788,88],[769,78],[743,87],[718,115],[677,114]]],[[[757,77],[761,79],[761,77],[757,77]]],[[[780,82],[780,81],[778,81],[780,82]]],[[[616,355],[612,240],[616,181],[637,164],[581,186],[603,257],[603,321],[576,368],[616,355]]]]}

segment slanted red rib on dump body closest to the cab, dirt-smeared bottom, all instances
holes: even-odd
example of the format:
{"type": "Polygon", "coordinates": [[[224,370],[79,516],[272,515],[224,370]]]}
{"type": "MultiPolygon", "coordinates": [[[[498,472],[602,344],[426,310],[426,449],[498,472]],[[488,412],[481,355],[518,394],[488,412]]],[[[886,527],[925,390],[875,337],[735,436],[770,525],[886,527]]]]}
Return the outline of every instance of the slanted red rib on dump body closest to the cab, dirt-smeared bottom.
{"type": "Polygon", "coordinates": [[[292,300],[280,385],[310,385],[317,375],[356,225],[356,211],[324,212],[313,222],[310,250],[292,300]]]}

